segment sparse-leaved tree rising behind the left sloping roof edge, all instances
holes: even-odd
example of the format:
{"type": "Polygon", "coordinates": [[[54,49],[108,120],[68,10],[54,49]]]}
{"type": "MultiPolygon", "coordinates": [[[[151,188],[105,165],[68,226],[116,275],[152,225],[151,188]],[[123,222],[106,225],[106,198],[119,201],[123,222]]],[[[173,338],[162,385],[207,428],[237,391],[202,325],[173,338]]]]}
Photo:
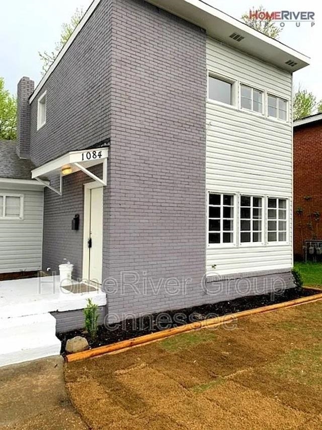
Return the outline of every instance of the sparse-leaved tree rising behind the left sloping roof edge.
{"type": "Polygon", "coordinates": [[[70,18],[69,23],[64,23],[61,26],[61,33],[60,33],[60,39],[59,42],[55,43],[55,48],[51,52],[38,52],[41,62],[42,62],[42,75],[45,75],[47,70],[50,68],[51,64],[56,59],[57,55],[59,54],[60,50],[65,46],[67,40],[71,36],[72,32],[74,31],[75,27],[81,21],[83,18],[84,12],[83,9],[76,9],[75,13],[70,18]]]}

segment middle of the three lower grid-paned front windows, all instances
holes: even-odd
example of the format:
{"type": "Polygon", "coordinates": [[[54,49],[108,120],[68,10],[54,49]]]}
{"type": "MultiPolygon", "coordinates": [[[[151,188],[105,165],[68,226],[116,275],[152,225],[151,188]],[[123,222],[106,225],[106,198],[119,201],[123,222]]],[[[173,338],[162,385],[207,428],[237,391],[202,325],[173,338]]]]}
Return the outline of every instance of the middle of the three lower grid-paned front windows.
{"type": "Polygon", "coordinates": [[[261,197],[240,196],[240,243],[262,241],[261,197]]]}

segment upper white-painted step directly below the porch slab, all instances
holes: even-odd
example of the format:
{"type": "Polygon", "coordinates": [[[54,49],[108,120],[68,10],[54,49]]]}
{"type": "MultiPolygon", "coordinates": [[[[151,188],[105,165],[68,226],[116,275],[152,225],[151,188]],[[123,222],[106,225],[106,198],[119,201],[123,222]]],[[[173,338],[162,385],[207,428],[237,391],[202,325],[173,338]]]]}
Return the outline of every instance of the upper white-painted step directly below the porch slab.
{"type": "Polygon", "coordinates": [[[38,335],[55,334],[55,331],[56,320],[49,313],[28,315],[26,317],[0,317],[0,342],[9,337],[31,335],[32,333],[38,335]]]}

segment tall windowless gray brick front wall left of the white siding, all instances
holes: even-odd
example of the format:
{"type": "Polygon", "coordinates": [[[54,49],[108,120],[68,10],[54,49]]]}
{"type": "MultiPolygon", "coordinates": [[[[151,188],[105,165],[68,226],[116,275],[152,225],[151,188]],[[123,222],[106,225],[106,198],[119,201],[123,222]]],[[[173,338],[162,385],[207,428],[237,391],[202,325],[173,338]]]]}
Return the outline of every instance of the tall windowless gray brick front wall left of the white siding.
{"type": "MultiPolygon", "coordinates": [[[[110,314],[185,307],[205,271],[206,35],[142,0],[114,2],[103,278],[110,314]],[[135,291],[121,272],[139,276],[135,291]],[[163,285],[157,294],[144,279],[163,285]],[[168,278],[191,278],[186,294],[168,278]]],[[[129,275],[130,276],[130,275],[129,275]]]]}

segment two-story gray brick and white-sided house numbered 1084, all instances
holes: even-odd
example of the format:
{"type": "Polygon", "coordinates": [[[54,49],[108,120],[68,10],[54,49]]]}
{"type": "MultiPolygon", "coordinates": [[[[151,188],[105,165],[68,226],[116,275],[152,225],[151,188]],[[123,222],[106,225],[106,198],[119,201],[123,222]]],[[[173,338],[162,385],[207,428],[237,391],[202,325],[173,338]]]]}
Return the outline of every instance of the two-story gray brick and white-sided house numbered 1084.
{"type": "Polygon", "coordinates": [[[43,269],[102,284],[110,320],[292,286],[308,63],[201,0],[94,0],[38,86],[19,82],[43,269]]]}

